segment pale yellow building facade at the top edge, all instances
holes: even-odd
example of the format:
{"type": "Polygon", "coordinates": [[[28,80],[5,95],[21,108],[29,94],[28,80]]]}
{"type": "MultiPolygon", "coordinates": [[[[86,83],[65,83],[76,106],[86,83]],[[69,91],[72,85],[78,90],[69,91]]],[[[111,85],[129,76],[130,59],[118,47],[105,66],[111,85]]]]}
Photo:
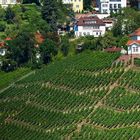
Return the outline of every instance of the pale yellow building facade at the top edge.
{"type": "Polygon", "coordinates": [[[82,12],[83,10],[83,0],[62,0],[64,4],[69,4],[72,6],[74,12],[82,12]]]}

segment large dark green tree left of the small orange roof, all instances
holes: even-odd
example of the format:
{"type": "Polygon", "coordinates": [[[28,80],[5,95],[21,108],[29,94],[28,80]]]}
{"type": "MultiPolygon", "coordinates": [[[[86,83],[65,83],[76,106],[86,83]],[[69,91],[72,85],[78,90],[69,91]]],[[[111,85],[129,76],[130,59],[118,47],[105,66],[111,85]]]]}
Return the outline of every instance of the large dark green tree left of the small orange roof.
{"type": "Polygon", "coordinates": [[[35,55],[33,38],[31,33],[23,31],[15,39],[8,41],[7,58],[16,61],[18,66],[32,62],[35,55]]]}

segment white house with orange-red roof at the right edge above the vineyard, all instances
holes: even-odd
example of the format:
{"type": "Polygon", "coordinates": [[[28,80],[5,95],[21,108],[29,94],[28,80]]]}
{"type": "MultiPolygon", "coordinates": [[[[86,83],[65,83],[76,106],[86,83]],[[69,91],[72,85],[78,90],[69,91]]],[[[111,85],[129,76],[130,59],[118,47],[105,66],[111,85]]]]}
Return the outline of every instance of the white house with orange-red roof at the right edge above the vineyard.
{"type": "Polygon", "coordinates": [[[131,40],[127,42],[128,54],[140,55],[140,28],[129,36],[131,40]]]}

